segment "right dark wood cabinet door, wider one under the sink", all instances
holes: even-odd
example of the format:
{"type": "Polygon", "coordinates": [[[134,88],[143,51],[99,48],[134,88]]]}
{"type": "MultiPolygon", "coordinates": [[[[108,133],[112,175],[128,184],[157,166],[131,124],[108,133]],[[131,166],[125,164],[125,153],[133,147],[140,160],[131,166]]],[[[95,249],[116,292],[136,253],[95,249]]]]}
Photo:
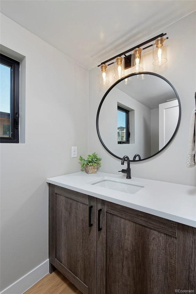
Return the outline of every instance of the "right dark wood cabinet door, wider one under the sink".
{"type": "Polygon", "coordinates": [[[99,199],[97,209],[97,294],[175,293],[176,224],[99,199]]]}

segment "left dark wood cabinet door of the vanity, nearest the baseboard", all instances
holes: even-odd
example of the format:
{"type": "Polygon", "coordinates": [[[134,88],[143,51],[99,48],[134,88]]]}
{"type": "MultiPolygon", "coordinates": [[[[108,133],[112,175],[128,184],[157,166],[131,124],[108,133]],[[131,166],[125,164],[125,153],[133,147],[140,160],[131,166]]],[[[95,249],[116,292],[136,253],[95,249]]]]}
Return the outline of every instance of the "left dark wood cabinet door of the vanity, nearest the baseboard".
{"type": "Polygon", "coordinates": [[[49,258],[82,293],[96,293],[96,198],[49,186],[49,258]]]}

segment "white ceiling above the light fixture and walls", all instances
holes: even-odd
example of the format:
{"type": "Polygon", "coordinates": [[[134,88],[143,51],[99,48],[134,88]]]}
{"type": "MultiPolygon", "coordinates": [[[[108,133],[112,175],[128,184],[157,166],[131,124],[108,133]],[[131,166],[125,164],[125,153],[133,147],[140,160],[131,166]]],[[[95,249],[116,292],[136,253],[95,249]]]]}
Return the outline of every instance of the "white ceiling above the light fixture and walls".
{"type": "Polygon", "coordinates": [[[0,5],[1,13],[87,69],[196,9],[195,0],[2,0],[0,5]]]}

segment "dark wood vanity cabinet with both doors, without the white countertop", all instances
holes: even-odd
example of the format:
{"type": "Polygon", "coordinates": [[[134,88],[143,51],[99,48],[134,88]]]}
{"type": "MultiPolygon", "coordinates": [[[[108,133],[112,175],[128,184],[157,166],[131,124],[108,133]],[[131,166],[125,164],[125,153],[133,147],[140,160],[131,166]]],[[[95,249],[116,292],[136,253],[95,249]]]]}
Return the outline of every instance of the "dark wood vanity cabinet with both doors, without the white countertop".
{"type": "Polygon", "coordinates": [[[196,292],[196,228],[51,184],[49,207],[50,272],[82,293],[196,292]]]}

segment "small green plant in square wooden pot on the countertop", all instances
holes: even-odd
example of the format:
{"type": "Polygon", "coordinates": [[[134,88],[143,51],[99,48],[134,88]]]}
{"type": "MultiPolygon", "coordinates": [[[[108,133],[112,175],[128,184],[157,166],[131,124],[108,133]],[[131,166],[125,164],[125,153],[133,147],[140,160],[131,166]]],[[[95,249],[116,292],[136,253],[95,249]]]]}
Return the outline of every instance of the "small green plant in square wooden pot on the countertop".
{"type": "Polygon", "coordinates": [[[79,160],[81,162],[81,168],[85,167],[85,172],[87,174],[96,174],[97,166],[101,165],[101,158],[99,158],[95,152],[91,155],[89,154],[86,159],[80,155],[79,160]]]}

